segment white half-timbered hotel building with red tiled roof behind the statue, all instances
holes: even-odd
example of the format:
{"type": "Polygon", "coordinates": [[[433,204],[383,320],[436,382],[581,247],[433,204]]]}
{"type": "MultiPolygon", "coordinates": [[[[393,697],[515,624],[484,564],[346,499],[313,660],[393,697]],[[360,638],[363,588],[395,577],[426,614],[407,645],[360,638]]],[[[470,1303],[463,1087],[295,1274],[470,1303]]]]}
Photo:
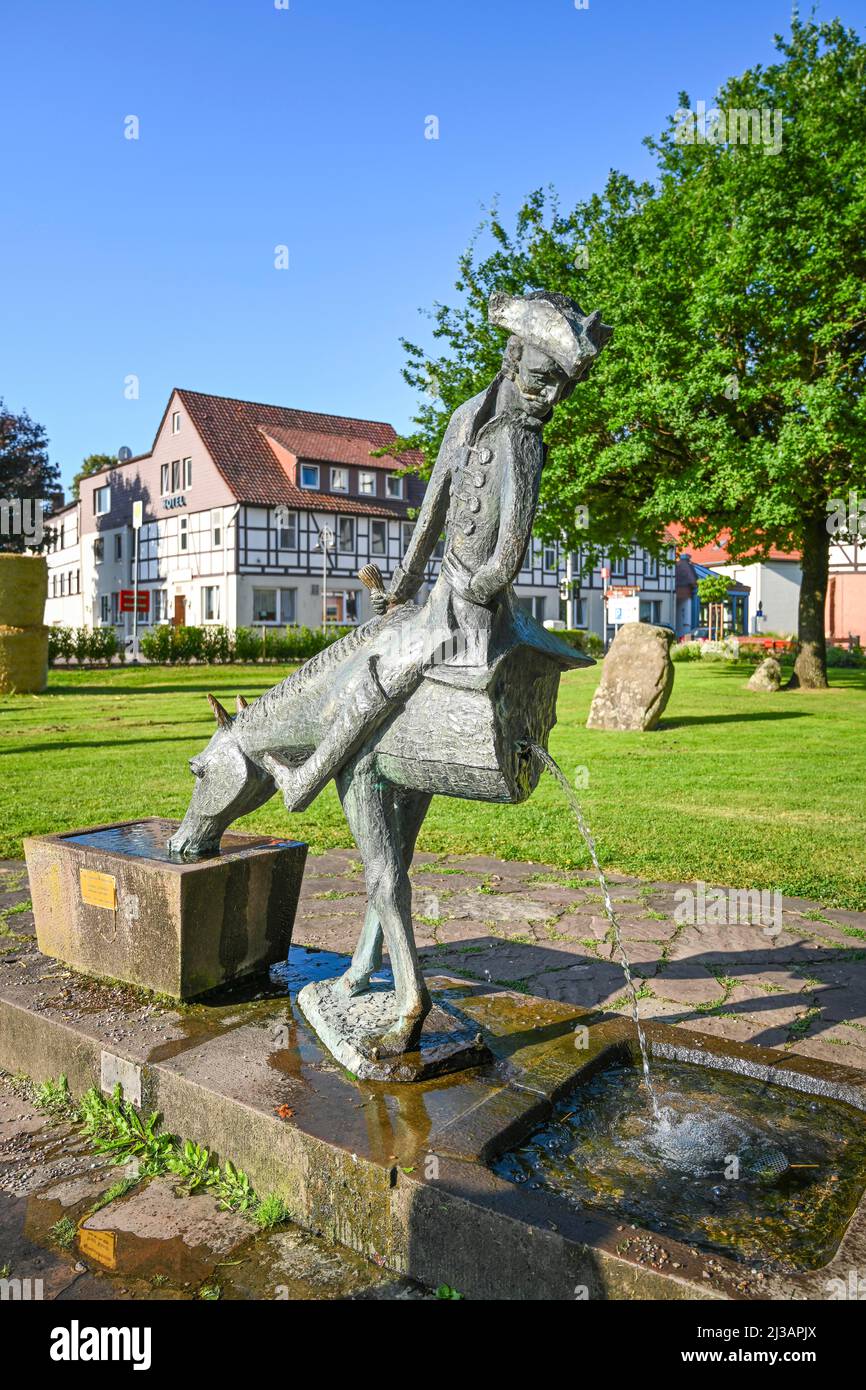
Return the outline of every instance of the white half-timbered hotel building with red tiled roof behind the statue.
{"type": "MultiPolygon", "coordinates": [[[[138,588],[147,605],[139,627],[364,621],[371,607],[357,571],[374,563],[388,580],[424,496],[424,482],[400,471],[416,456],[374,456],[395,438],[381,421],[174,391],[150,452],[83,478],[79,500],[50,518],[46,621],[114,626],[129,638],[136,502],[138,588]],[[322,532],[331,538],[324,549],[322,532]]],[[[656,564],[632,546],[569,589],[577,569],[578,557],[569,564],[559,545],[534,541],[518,603],[539,621],[605,635],[605,588],[637,585],[641,617],[673,626],[673,548],[656,564]]],[[[434,557],[427,582],[436,573],[434,557]]]]}

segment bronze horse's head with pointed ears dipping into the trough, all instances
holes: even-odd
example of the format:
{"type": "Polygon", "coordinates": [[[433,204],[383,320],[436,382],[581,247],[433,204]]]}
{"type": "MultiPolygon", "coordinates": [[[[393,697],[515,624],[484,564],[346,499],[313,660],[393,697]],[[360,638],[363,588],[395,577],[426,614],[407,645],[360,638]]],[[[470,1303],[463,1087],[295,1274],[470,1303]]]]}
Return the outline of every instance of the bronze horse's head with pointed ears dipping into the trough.
{"type": "MultiPolygon", "coordinates": [[[[263,806],[277,790],[270,774],[240,748],[232,716],[213,695],[207,702],[217,728],[207,748],[189,759],[196,785],[186,815],[168,841],[170,851],[185,859],[214,853],[227,827],[238,816],[263,806]]],[[[246,701],[239,695],[238,713],[243,709],[246,701]]]]}

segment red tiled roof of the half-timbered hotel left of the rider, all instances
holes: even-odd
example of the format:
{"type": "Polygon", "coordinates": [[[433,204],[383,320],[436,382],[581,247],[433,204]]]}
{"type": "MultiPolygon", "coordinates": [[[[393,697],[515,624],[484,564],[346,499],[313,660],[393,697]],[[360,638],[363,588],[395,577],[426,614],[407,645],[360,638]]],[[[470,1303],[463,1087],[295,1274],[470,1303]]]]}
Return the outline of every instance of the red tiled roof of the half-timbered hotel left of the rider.
{"type": "MultiPolygon", "coordinates": [[[[268,436],[296,457],[324,463],[366,464],[379,468],[399,468],[420,463],[416,453],[400,455],[396,460],[371,459],[373,449],[393,443],[396,431],[378,420],[356,420],[352,416],[327,416],[311,410],[291,410],[286,406],[265,406],[253,400],[234,400],[229,396],[210,396],[199,391],[178,388],[190,421],[214,464],[239,502],[275,506],[311,505],[307,489],[295,486],[286,474],[268,436]]],[[[328,496],[316,493],[314,506],[322,512],[357,512],[373,516],[405,516],[406,503],[328,496]]]]}

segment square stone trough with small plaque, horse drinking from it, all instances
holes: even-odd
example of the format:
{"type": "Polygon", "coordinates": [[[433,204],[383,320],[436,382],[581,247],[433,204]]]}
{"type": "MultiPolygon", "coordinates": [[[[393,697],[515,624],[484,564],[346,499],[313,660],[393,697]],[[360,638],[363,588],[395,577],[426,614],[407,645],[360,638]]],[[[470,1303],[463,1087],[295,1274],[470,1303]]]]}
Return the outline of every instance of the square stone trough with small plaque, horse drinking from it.
{"type": "Polygon", "coordinates": [[[227,834],[218,855],[183,862],[164,848],[177,824],[25,840],[39,949],[175,999],[285,960],[307,847],[227,834]]]}

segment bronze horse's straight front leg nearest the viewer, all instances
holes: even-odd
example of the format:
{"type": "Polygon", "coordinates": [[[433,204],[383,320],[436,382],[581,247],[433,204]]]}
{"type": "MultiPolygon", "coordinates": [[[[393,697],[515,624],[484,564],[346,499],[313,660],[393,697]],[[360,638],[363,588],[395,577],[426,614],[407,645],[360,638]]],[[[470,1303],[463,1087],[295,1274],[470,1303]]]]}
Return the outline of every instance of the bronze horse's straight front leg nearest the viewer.
{"type": "MultiPolygon", "coordinates": [[[[382,1036],[379,1048],[384,1055],[406,1052],[417,1045],[431,1006],[411,930],[411,885],[402,831],[406,808],[402,795],[389,783],[382,783],[370,755],[341,774],[338,790],[364,860],[367,897],[381,924],[393,972],[399,1016],[382,1036]]],[[[417,820],[413,844],[430,798],[424,801],[423,808],[413,805],[410,812],[411,820],[417,820]]]]}

